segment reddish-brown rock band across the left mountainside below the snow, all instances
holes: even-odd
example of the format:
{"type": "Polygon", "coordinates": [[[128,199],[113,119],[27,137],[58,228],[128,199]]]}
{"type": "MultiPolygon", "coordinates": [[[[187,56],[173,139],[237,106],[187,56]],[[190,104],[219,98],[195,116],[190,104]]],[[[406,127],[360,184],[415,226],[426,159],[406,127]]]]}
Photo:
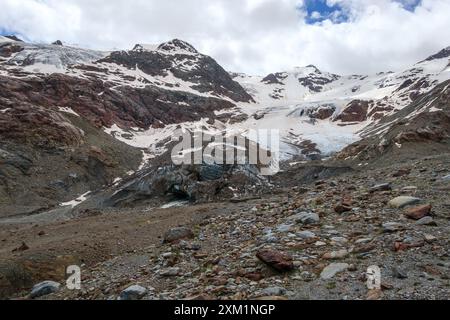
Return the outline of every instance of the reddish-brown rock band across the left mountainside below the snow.
{"type": "MultiPolygon", "coordinates": [[[[57,108],[68,108],[88,119],[96,127],[119,126],[148,128],[151,125],[196,121],[201,118],[215,118],[214,111],[233,108],[231,102],[197,96],[178,91],[168,91],[157,87],[112,89],[112,85],[102,81],[80,79],[62,74],[52,74],[42,78],[13,79],[0,76],[0,108],[21,105],[22,110],[0,114],[7,123],[2,128],[7,132],[13,125],[14,114],[40,110],[49,114],[57,108]],[[187,105],[180,107],[179,103],[187,105]]],[[[38,115],[27,115],[38,117],[38,115]]],[[[50,121],[48,117],[40,117],[50,121]]],[[[20,120],[20,119],[18,119],[20,120]]],[[[32,121],[32,120],[30,120],[32,121]]],[[[58,120],[59,121],[59,120],[58,120]]]]}

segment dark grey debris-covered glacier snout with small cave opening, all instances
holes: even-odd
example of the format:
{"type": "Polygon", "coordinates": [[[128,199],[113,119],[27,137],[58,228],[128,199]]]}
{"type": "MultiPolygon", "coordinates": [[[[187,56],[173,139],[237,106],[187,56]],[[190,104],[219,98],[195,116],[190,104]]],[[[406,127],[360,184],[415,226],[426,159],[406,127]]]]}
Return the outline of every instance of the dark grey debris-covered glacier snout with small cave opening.
{"type": "Polygon", "coordinates": [[[234,194],[229,185],[245,193],[255,185],[262,191],[266,184],[252,165],[166,165],[144,170],[139,177],[125,181],[111,196],[106,196],[104,205],[127,206],[146,199],[167,197],[197,202],[230,199],[234,194]]]}

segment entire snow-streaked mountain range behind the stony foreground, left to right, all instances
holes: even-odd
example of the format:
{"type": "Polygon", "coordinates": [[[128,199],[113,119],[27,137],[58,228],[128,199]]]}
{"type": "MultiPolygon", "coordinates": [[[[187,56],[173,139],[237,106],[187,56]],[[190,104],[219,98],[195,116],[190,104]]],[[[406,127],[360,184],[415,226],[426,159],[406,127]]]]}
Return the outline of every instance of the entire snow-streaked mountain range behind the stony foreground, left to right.
{"type": "Polygon", "coordinates": [[[448,48],[398,72],[345,76],[310,65],[259,77],[229,73],[178,39],[113,52],[17,40],[0,39],[8,215],[123,189],[118,181],[170,150],[177,128],[247,138],[250,129],[278,129],[281,160],[340,152],[360,161],[378,156],[375,145],[439,143],[447,132],[437,103],[450,79],[448,48]]]}

